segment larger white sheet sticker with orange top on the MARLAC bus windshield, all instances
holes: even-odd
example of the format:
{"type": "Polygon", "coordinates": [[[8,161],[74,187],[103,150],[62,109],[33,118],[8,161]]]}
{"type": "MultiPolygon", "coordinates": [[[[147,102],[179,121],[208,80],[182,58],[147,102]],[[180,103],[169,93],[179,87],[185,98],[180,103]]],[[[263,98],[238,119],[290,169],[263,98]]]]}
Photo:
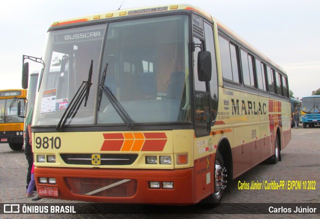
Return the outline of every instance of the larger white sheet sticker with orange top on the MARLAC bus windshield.
{"type": "Polygon", "coordinates": [[[55,113],[56,103],[56,88],[50,90],[44,90],[42,92],[41,100],[41,114],[55,113]]]}

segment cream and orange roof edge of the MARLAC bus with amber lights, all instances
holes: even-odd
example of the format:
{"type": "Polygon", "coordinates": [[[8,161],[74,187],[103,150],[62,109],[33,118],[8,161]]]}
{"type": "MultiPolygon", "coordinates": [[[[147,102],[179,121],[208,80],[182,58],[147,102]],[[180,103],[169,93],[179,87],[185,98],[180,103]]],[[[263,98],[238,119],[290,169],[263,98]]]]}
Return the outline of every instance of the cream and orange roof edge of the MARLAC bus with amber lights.
{"type": "Polygon", "coordinates": [[[242,39],[239,35],[237,35],[235,32],[233,32],[231,29],[229,29],[227,26],[225,26],[222,22],[217,20],[216,18],[212,17],[208,12],[205,10],[191,5],[191,4],[164,4],[164,5],[155,5],[155,6],[144,6],[144,7],[136,7],[136,8],[127,8],[127,9],[120,9],[120,10],[113,10],[113,11],[107,11],[107,12],[101,12],[91,15],[85,15],[81,17],[75,17],[65,20],[60,20],[53,22],[49,28],[55,28],[60,27],[63,25],[76,25],[81,24],[83,22],[88,21],[99,21],[103,19],[109,19],[109,18],[115,18],[115,17],[125,17],[125,16],[134,16],[138,14],[149,14],[149,13],[159,13],[163,11],[172,11],[172,10],[192,10],[197,13],[202,14],[204,17],[206,17],[208,20],[216,22],[218,27],[233,36],[237,41],[239,41],[241,44],[245,45],[247,48],[249,48],[252,52],[256,53],[256,55],[260,56],[267,62],[269,62],[271,65],[273,65],[275,68],[277,68],[279,71],[281,71],[284,75],[286,75],[286,72],[284,69],[274,63],[272,60],[270,60],[267,56],[263,55],[259,50],[254,48],[251,44],[249,44],[247,41],[242,39]]]}

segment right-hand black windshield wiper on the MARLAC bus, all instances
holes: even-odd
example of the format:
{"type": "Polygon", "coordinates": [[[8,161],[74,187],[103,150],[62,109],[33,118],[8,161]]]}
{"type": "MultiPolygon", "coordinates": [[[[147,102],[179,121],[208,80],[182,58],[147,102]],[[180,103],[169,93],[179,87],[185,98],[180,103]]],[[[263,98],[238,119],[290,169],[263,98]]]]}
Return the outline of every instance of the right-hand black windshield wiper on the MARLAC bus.
{"type": "Polygon", "coordinates": [[[111,89],[104,85],[105,77],[106,77],[106,69],[107,69],[108,63],[106,63],[103,75],[101,79],[101,83],[99,85],[99,96],[98,96],[98,106],[97,110],[100,110],[100,104],[101,104],[101,98],[102,98],[102,92],[105,94],[105,96],[110,101],[111,105],[113,106],[116,113],[120,116],[122,121],[126,124],[126,126],[129,129],[136,129],[135,122],[131,119],[129,114],[125,111],[125,109],[122,107],[122,105],[119,103],[119,101],[116,99],[116,97],[111,92],[111,89]]]}

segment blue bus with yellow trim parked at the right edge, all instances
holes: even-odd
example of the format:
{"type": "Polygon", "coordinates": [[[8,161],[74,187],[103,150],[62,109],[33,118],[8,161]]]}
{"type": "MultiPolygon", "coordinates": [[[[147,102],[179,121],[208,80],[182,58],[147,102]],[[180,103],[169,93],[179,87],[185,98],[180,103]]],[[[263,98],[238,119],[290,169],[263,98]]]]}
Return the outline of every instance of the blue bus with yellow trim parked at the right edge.
{"type": "Polygon", "coordinates": [[[304,129],[320,124],[320,95],[302,97],[301,119],[304,129]]]}

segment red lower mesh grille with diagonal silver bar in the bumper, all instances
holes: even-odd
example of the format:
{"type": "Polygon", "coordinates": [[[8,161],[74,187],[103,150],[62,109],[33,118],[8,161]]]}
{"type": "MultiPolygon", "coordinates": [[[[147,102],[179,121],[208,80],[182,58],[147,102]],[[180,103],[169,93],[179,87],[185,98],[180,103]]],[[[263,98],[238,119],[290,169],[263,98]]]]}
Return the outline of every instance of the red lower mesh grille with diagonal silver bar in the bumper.
{"type": "Polygon", "coordinates": [[[64,178],[68,189],[77,195],[96,197],[132,197],[136,193],[136,180],[64,178]]]}

